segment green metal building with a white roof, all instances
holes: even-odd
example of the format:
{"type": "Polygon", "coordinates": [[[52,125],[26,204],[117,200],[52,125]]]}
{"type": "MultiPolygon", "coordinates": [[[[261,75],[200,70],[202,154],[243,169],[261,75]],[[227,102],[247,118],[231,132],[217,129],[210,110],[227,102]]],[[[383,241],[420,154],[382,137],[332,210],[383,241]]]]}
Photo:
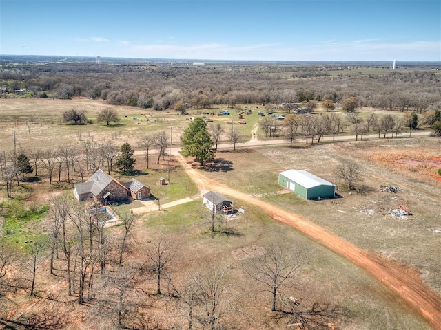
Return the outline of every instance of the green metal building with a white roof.
{"type": "Polygon", "coordinates": [[[306,170],[285,170],[278,175],[278,183],[305,199],[332,198],[336,186],[306,170]]]}

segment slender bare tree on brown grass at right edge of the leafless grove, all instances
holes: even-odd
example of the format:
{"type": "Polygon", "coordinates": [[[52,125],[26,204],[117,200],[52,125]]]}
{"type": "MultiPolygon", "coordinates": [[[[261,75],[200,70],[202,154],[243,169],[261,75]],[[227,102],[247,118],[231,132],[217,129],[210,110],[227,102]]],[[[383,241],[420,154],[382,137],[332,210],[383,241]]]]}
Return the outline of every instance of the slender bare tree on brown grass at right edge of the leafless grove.
{"type": "Polygon", "coordinates": [[[174,259],[174,246],[161,238],[153,241],[146,250],[147,270],[156,274],[156,294],[161,292],[161,278],[167,274],[168,267],[174,259]]]}

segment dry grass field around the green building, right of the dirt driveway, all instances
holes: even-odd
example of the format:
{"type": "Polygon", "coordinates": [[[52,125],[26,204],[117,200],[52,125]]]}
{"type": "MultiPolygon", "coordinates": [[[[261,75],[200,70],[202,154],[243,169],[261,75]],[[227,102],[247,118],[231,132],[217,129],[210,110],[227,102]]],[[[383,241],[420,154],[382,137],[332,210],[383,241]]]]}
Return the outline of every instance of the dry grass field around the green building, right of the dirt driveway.
{"type": "Polygon", "coordinates": [[[260,148],[240,154],[225,151],[218,155],[234,164],[232,169],[207,174],[301,214],[365,250],[410,266],[441,293],[441,166],[430,163],[441,157],[438,144],[439,140],[427,137],[260,148]],[[343,198],[322,201],[305,201],[294,194],[278,193],[283,187],[277,184],[277,174],[289,168],[309,170],[341,186],[334,169],[348,159],[363,166],[358,192],[342,190],[339,193],[343,198]],[[421,163],[398,163],[402,159],[421,163]],[[399,186],[402,192],[380,192],[381,186],[399,186]],[[400,206],[413,215],[407,219],[392,217],[390,210],[400,206]]]}

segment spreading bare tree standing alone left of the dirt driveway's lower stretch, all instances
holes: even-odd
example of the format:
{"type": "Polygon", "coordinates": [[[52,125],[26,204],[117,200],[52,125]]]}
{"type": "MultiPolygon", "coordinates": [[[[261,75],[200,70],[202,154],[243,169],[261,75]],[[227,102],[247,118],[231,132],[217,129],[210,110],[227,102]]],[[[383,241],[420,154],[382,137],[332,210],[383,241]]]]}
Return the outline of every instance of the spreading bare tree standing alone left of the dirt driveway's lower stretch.
{"type": "Polygon", "coordinates": [[[243,264],[245,272],[266,287],[271,294],[271,311],[277,311],[280,289],[298,283],[301,267],[305,265],[306,254],[301,248],[271,244],[266,253],[255,256],[243,264]]]}

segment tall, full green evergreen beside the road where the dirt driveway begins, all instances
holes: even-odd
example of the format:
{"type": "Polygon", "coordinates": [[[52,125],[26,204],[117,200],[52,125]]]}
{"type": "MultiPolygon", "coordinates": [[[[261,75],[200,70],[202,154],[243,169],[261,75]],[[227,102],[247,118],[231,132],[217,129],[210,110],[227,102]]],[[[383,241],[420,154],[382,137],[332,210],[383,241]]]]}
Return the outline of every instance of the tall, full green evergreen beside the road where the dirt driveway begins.
{"type": "Polygon", "coordinates": [[[212,141],[208,131],[207,124],[202,118],[196,118],[185,129],[181,136],[182,154],[195,157],[196,162],[201,163],[212,160],[214,158],[214,142],[212,141]]]}

